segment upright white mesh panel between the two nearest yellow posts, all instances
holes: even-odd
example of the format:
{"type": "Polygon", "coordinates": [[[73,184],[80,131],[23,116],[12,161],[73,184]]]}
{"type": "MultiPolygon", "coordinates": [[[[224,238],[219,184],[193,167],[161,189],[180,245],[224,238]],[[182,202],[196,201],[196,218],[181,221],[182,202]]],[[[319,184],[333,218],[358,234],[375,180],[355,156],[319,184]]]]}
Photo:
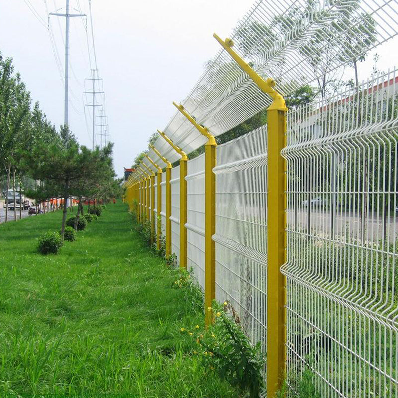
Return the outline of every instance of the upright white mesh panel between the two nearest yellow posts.
{"type": "Polygon", "coordinates": [[[253,343],[267,335],[267,129],[217,148],[216,298],[228,300],[253,343]]]}

